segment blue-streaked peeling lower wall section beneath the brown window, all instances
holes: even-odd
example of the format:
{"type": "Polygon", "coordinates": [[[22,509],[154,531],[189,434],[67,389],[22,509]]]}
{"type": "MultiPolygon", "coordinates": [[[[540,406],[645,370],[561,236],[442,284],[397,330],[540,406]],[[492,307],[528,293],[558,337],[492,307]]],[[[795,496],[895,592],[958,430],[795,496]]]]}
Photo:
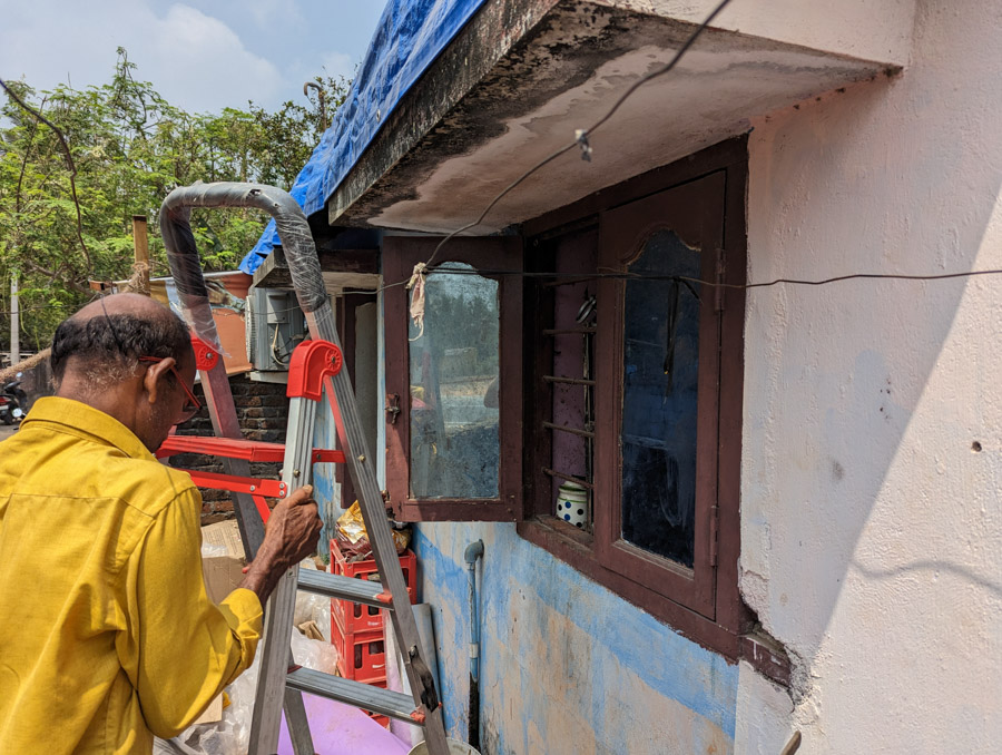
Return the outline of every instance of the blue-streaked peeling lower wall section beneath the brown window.
{"type": "Polygon", "coordinates": [[[416,528],[451,736],[465,739],[469,616],[463,548],[482,538],[484,755],[723,755],[737,666],[518,537],[512,524],[416,528]]]}

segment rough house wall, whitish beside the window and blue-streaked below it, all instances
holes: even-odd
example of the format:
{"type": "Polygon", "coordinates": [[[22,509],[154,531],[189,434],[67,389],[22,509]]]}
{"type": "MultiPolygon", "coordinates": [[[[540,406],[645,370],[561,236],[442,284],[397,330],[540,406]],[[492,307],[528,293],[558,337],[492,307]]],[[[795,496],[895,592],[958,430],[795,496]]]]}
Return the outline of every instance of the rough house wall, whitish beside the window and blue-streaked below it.
{"type": "MultiPolygon", "coordinates": [[[[877,12],[875,10],[874,12],[877,12]]],[[[918,3],[904,72],[754,119],[749,281],[1002,267],[1002,6],[918,3]]],[[[423,524],[454,735],[483,538],[485,755],[999,752],[1002,277],[748,295],[741,589],[793,688],[509,524],[423,524]]]]}

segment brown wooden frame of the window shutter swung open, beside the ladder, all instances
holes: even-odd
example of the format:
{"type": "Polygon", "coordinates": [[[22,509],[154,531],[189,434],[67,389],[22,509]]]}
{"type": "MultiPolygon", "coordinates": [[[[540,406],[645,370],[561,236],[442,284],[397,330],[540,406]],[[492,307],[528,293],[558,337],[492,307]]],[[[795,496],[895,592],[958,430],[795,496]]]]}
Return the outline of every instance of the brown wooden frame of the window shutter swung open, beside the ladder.
{"type": "MultiPolygon", "coordinates": [[[[414,265],[431,258],[439,237],[387,236],[383,239],[384,285],[405,282],[414,265]]],[[[435,257],[436,264],[459,262],[484,271],[518,269],[522,241],[517,236],[453,238],[435,257]]],[[[384,294],[387,405],[385,413],[386,489],[389,506],[400,521],[519,521],[522,518],[522,285],[519,276],[484,273],[498,282],[499,441],[495,499],[414,499],[410,496],[410,423],[407,322],[410,296],[403,285],[384,294]],[[394,400],[393,396],[396,396],[394,400]],[[394,421],[395,416],[395,421],[394,421]]]]}

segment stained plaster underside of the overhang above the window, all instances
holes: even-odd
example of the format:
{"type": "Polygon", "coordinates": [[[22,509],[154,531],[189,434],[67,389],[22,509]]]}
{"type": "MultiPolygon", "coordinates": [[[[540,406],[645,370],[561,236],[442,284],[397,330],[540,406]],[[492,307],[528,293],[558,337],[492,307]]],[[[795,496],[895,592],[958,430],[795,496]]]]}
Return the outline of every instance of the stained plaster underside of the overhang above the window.
{"type": "MultiPolygon", "coordinates": [[[[815,24],[842,28],[842,19],[828,10],[815,24]]],[[[576,129],[597,122],[631,84],[669,61],[691,32],[690,22],[667,16],[558,4],[454,107],[436,115],[406,155],[391,164],[390,151],[376,146],[363,157],[356,171],[380,164],[379,176],[350,208],[342,207],[337,222],[431,233],[464,226],[529,166],[572,140],[576,129]]],[[[537,171],[472,233],[538,217],[744,134],[750,117],[883,76],[896,69],[893,63],[780,42],[768,33],[707,30],[671,75],[637,89],[589,136],[590,161],[574,150],[537,171]]],[[[464,60],[452,65],[456,75],[466,68],[464,60]]],[[[438,99],[424,105],[415,119],[444,108],[438,99]]]]}

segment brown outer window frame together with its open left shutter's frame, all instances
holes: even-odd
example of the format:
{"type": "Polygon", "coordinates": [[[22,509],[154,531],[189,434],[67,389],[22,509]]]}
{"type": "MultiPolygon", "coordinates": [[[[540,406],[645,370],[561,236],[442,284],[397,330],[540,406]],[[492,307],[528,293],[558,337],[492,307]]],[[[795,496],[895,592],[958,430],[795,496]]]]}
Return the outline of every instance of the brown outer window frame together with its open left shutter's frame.
{"type": "MultiPolygon", "coordinates": [[[[512,269],[512,265],[518,269],[521,263],[523,265],[521,269],[528,273],[546,273],[553,269],[552,259],[547,257],[547,247],[554,238],[573,233],[598,233],[602,213],[615,212],[617,208],[691,184],[713,174],[721,174],[725,177],[720,248],[725,253],[726,261],[726,265],[714,273],[721,283],[741,286],[745,283],[747,267],[746,137],[708,147],[668,166],[633,177],[529,220],[521,228],[521,237],[452,239],[449,242],[449,253],[442,256],[440,262],[448,258],[487,269],[499,267],[512,269]],[[477,249],[483,253],[468,254],[477,249]],[[495,254],[492,257],[491,249],[504,251],[502,265],[499,265],[502,256],[495,254]]],[[[385,238],[384,284],[392,285],[407,280],[414,263],[428,259],[439,241],[430,237],[385,238]]],[[[552,478],[541,471],[548,465],[544,462],[549,459],[549,441],[546,440],[547,433],[540,432],[536,423],[536,420],[546,415],[549,401],[542,385],[543,381],[540,380],[540,375],[544,372],[541,365],[546,364],[547,360],[549,360],[547,366],[552,365],[552,343],[541,343],[538,340],[538,335],[544,329],[552,326],[552,323],[548,323],[542,316],[544,307],[541,306],[539,293],[543,287],[538,280],[529,276],[520,278],[514,275],[485,275],[485,277],[495,277],[501,284],[502,457],[499,480],[501,497],[490,502],[455,499],[410,500],[406,494],[409,438],[405,432],[400,433],[394,426],[402,423],[403,428],[409,428],[409,402],[400,400],[396,423],[391,421],[392,412],[386,414],[387,487],[390,507],[394,516],[409,521],[515,521],[517,531],[521,537],[544,548],[589,579],[639,606],[704,647],[719,653],[731,661],[738,658],[747,660],[772,679],[788,684],[790,673],[788,658],[775,641],[756,631],[755,617],[741,601],[738,590],[744,288],[721,288],[716,294],[716,305],[723,307],[719,321],[719,353],[724,355],[718,370],[718,409],[714,416],[717,422],[714,512],[716,557],[713,565],[711,594],[704,590],[705,595],[695,604],[686,605],[684,600],[677,599],[677,596],[672,599],[665,595],[664,589],[652,587],[658,577],[666,572],[664,559],[633,552],[638,549],[621,543],[612,545],[615,539],[610,531],[615,531],[617,527],[612,517],[599,514],[596,520],[596,531],[605,528],[608,545],[603,546],[601,537],[596,538],[592,533],[579,530],[552,516],[550,510],[552,478]],[[636,560],[654,561],[656,568],[644,573],[642,568],[638,571],[632,570],[632,565],[627,563],[623,567],[622,563],[615,563],[609,555],[617,548],[636,560]],[[708,601],[711,601],[711,608],[708,601]]],[[[549,312],[549,316],[552,317],[552,306],[549,312]]],[[[400,376],[406,374],[407,360],[405,347],[407,297],[403,286],[387,288],[384,314],[386,390],[399,392],[400,389],[394,385],[406,385],[406,381],[401,381],[400,376]],[[404,372],[401,373],[401,370],[404,372]]],[[[703,419],[700,418],[700,421],[703,419]]],[[[616,432],[609,437],[618,439],[618,425],[616,432]]],[[[609,492],[601,494],[610,496],[609,492]]],[[[616,492],[611,493],[610,500],[619,500],[616,492]]],[[[672,567],[668,565],[667,570],[672,570],[672,567]]],[[[685,567],[677,567],[674,570],[681,578],[687,576],[685,567]]]]}

